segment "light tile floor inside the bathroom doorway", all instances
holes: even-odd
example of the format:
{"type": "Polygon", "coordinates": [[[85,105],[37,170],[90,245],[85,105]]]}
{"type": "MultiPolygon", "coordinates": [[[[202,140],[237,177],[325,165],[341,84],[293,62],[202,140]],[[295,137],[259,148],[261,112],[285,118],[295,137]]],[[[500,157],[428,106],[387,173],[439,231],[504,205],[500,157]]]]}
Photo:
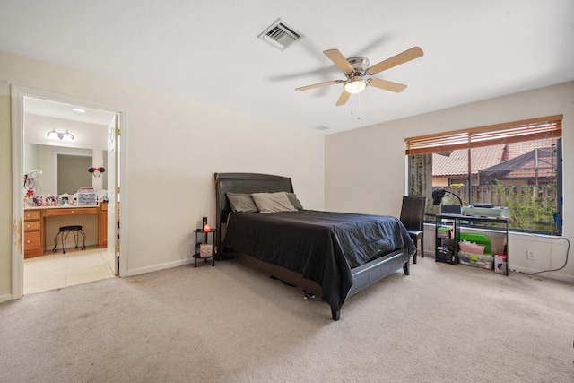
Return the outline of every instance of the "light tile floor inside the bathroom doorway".
{"type": "Polygon", "coordinates": [[[106,251],[71,248],[65,254],[47,251],[42,257],[24,259],[24,295],[113,277],[106,251]]]}

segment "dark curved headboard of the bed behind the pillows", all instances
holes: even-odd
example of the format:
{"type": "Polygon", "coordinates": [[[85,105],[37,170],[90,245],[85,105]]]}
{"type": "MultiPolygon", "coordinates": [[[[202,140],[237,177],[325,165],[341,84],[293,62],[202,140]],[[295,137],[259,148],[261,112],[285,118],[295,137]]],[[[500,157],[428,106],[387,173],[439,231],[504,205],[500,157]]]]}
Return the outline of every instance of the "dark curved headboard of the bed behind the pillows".
{"type": "Polygon", "coordinates": [[[231,213],[226,193],[293,193],[291,178],[257,173],[215,173],[216,244],[222,250],[222,224],[231,213]]]}

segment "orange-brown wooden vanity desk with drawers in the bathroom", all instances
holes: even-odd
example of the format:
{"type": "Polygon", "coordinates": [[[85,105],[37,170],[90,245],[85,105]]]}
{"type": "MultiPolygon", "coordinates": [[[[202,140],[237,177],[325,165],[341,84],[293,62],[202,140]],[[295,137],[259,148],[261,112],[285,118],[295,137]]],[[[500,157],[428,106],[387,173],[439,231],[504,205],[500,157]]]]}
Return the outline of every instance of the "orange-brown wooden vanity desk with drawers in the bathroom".
{"type": "Polygon", "coordinates": [[[24,258],[44,255],[46,248],[46,220],[50,217],[97,215],[98,247],[108,242],[108,204],[97,206],[39,206],[24,209],[24,258]]]}

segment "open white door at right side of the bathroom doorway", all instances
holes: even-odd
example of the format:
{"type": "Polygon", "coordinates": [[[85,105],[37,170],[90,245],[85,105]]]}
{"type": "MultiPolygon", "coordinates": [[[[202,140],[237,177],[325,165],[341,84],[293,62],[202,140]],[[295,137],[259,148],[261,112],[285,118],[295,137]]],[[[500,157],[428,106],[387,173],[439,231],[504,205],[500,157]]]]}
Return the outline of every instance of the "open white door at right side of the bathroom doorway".
{"type": "Polygon", "coordinates": [[[108,126],[108,252],[109,267],[119,274],[119,115],[108,126]],[[117,161],[116,161],[117,159],[117,161]]]}

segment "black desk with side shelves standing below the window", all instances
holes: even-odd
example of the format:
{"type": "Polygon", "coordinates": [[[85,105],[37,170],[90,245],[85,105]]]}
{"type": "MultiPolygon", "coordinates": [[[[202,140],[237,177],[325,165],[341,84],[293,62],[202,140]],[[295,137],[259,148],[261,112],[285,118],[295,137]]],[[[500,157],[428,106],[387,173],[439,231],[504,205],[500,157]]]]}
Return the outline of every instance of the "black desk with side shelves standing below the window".
{"type": "MultiPolygon", "coordinates": [[[[458,264],[458,242],[461,228],[475,228],[476,223],[491,223],[505,231],[506,275],[509,275],[509,218],[483,217],[463,214],[437,214],[435,216],[435,261],[458,264]]],[[[483,226],[482,226],[483,228],[483,226]]]]}

